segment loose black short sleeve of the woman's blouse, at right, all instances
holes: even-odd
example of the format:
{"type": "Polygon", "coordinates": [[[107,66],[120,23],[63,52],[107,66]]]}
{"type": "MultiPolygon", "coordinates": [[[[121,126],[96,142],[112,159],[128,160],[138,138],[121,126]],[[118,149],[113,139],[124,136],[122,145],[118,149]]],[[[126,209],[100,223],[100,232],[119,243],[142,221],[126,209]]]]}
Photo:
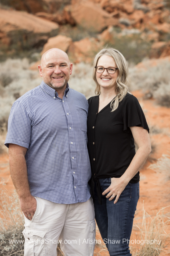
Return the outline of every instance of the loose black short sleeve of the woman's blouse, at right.
{"type": "Polygon", "coordinates": [[[149,127],[146,122],[145,115],[143,110],[139,104],[139,101],[136,97],[129,94],[124,100],[123,108],[122,108],[122,116],[124,127],[123,130],[127,133],[130,132],[130,128],[132,126],[140,126],[144,129],[148,130],[149,127]]]}

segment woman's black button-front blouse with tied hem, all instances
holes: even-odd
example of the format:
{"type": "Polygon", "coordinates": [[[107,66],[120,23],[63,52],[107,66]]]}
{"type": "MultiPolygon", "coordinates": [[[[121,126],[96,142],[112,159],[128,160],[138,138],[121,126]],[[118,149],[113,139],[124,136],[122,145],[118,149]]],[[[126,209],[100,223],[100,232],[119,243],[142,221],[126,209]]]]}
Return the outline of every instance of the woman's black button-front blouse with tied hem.
{"type": "MultiPolygon", "coordinates": [[[[88,151],[91,164],[91,194],[98,178],[121,177],[135,155],[135,144],[129,127],[142,126],[149,132],[145,115],[136,97],[127,93],[118,108],[111,112],[110,103],[99,113],[99,95],[88,99],[88,151]]],[[[130,180],[139,181],[139,172],[130,180]]]]}

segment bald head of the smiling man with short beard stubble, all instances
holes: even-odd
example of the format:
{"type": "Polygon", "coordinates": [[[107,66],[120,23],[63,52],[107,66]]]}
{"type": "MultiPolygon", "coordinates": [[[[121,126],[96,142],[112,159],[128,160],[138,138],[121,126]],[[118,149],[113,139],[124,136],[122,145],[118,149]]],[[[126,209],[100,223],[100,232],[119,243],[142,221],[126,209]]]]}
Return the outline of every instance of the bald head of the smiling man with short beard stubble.
{"type": "Polygon", "coordinates": [[[72,66],[66,52],[52,48],[42,55],[41,65],[38,66],[38,69],[43,81],[57,91],[67,85],[72,73],[72,66]]]}

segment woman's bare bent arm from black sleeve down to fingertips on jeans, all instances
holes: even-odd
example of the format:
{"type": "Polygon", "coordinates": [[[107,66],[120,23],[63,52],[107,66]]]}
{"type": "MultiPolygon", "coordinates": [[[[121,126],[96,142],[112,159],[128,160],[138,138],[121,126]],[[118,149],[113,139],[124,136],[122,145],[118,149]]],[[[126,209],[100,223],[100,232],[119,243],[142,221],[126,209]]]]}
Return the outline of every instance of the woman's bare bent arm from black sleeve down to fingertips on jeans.
{"type": "Polygon", "coordinates": [[[120,194],[125,189],[129,181],[144,165],[149,153],[151,152],[148,130],[139,126],[130,127],[130,130],[138,146],[138,150],[125,173],[120,178],[111,178],[111,185],[102,193],[102,195],[105,195],[110,191],[106,196],[106,198],[110,197],[110,201],[113,199],[112,195],[116,196],[114,204],[119,199],[120,194]]]}

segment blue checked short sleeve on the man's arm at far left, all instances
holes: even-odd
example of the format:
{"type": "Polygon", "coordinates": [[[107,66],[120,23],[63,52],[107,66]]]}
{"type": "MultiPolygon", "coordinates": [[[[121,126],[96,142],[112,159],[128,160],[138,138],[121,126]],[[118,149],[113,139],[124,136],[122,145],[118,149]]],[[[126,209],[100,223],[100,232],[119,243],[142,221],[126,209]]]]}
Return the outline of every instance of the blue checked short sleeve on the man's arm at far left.
{"type": "Polygon", "coordinates": [[[14,102],[8,119],[8,132],[5,146],[9,143],[29,148],[31,137],[31,119],[20,101],[14,102]]]}

